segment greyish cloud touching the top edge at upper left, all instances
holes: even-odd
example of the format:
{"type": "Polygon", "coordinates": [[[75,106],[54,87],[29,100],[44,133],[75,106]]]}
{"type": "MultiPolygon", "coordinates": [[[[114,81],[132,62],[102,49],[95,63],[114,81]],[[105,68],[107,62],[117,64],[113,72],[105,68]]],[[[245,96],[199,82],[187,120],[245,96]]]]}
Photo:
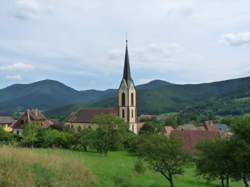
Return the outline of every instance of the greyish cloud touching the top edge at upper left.
{"type": "Polygon", "coordinates": [[[42,7],[37,0],[17,0],[11,14],[21,20],[31,20],[39,17],[42,7]]]}

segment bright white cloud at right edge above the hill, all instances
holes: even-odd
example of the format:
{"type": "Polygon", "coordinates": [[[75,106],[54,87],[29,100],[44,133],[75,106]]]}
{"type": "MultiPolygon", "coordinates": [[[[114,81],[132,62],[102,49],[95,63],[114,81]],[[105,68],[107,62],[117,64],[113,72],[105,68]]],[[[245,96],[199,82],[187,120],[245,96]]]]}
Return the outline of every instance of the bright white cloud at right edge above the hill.
{"type": "Polygon", "coordinates": [[[223,40],[232,46],[250,44],[250,32],[225,34],[223,40]]]}

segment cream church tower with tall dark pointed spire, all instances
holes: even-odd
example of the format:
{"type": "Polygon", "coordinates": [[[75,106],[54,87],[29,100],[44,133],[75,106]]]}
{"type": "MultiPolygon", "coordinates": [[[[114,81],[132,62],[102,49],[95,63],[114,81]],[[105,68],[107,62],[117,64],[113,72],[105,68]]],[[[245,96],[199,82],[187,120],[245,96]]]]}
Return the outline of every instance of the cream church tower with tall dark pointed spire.
{"type": "Polygon", "coordinates": [[[123,78],[118,90],[118,109],[119,116],[129,124],[129,129],[137,134],[136,88],[130,72],[127,40],[123,78]]]}

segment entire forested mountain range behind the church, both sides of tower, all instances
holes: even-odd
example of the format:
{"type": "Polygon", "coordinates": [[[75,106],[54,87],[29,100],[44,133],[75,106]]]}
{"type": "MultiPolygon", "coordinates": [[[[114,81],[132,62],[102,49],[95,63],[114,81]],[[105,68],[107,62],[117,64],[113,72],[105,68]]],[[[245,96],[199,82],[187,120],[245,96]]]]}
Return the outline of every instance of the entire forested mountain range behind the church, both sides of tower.
{"type": "MultiPolygon", "coordinates": [[[[15,84],[0,90],[0,115],[39,108],[49,115],[68,115],[81,107],[114,107],[117,91],[77,91],[58,81],[15,84]]],[[[203,83],[172,84],[155,80],[137,86],[138,113],[215,111],[250,113],[250,77],[203,83]]]]}

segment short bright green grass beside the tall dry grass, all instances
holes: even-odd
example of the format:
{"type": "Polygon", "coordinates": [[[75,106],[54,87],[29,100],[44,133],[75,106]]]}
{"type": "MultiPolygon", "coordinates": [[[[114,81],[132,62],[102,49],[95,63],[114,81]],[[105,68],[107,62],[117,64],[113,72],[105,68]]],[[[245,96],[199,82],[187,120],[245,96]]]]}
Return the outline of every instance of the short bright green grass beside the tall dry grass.
{"type": "MultiPolygon", "coordinates": [[[[72,152],[55,149],[40,149],[39,152],[56,154],[72,160],[79,160],[97,176],[102,187],[163,187],[167,181],[158,173],[147,170],[145,174],[137,174],[133,170],[136,157],[125,152],[112,152],[108,157],[102,157],[91,152],[72,152]],[[116,182],[115,182],[116,181],[116,182]]],[[[206,181],[195,177],[193,168],[188,168],[183,176],[175,179],[176,187],[216,187],[218,182],[206,184],[206,181]]],[[[241,183],[233,183],[232,187],[242,187],[241,183]]]]}

